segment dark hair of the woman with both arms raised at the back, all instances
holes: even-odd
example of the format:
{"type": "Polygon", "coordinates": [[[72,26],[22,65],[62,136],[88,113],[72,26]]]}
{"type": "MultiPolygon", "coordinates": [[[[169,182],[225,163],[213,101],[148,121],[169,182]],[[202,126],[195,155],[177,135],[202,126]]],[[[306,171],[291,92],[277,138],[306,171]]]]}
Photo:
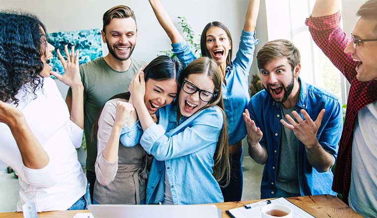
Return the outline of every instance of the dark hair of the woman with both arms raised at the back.
{"type": "MultiPolygon", "coordinates": [[[[207,23],[207,25],[205,25],[203,31],[201,32],[201,36],[200,36],[200,51],[201,51],[202,56],[211,57],[211,54],[209,54],[209,52],[207,50],[207,31],[208,31],[209,28],[214,27],[214,26],[219,27],[219,28],[221,28],[225,31],[225,33],[228,36],[229,42],[230,42],[230,48],[233,48],[233,40],[232,40],[232,36],[230,35],[230,31],[229,31],[228,27],[226,27],[223,23],[221,23],[219,21],[209,22],[209,23],[207,23]]],[[[228,52],[227,65],[229,65],[231,63],[231,61],[232,61],[232,50],[230,50],[228,52]]]]}

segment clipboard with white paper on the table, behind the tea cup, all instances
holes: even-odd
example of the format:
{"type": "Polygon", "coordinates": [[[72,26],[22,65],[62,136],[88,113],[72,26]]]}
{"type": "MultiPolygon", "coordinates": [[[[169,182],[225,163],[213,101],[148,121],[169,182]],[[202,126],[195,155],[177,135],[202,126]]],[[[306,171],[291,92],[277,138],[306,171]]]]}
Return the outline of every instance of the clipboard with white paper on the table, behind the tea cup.
{"type": "Polygon", "coordinates": [[[308,212],[292,204],[290,201],[286,200],[285,198],[277,198],[274,200],[255,202],[255,203],[244,205],[244,207],[225,211],[225,213],[227,213],[231,218],[251,218],[251,217],[261,218],[262,213],[260,212],[260,209],[262,209],[263,206],[267,204],[280,204],[280,205],[284,205],[290,208],[293,212],[294,218],[314,218],[308,212]]]}

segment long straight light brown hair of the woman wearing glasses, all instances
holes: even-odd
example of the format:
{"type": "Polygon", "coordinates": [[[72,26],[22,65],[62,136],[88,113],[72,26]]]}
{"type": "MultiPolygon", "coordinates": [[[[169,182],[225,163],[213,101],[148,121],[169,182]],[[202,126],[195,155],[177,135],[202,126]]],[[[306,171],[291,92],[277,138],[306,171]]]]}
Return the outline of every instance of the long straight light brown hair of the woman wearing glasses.
{"type": "MultiPolygon", "coordinates": [[[[206,109],[212,106],[216,106],[221,109],[223,113],[223,127],[220,131],[219,139],[216,145],[216,151],[213,156],[214,166],[213,166],[213,176],[216,178],[217,182],[222,187],[229,184],[230,180],[230,163],[229,163],[229,145],[228,145],[228,126],[226,115],[224,112],[224,102],[222,96],[222,77],[221,69],[215,60],[209,57],[199,57],[188,64],[188,66],[183,71],[183,76],[179,81],[182,87],[183,79],[187,78],[190,74],[195,73],[206,73],[213,81],[215,85],[216,97],[212,99],[206,106],[202,109],[206,109]]],[[[178,110],[179,111],[179,110],[178,110]]],[[[178,113],[180,116],[180,113],[178,113]]],[[[179,118],[178,118],[179,119],[179,118]]]]}

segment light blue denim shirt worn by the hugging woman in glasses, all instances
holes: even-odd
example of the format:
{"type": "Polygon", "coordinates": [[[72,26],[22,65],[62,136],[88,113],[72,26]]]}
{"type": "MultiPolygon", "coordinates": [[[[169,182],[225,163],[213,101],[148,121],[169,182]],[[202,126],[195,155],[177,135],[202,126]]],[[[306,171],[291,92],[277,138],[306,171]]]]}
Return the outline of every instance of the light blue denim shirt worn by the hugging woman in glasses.
{"type": "MultiPolygon", "coordinates": [[[[180,125],[177,106],[165,106],[157,115],[159,124],[148,127],[140,139],[144,150],[154,156],[146,204],[164,201],[165,173],[174,204],[224,202],[220,186],[212,175],[213,156],[223,126],[221,110],[211,107],[190,117],[182,116],[180,125]]],[[[121,142],[130,146],[137,144],[139,133],[127,126],[124,129],[121,142]]],[[[141,132],[139,126],[137,129],[141,132]]]]}

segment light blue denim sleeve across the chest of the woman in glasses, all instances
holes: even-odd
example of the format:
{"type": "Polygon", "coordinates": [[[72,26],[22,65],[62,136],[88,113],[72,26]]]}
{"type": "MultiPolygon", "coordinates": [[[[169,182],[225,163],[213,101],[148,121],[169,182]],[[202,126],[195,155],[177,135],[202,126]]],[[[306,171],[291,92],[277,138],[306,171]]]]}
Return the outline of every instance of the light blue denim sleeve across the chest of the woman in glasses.
{"type": "Polygon", "coordinates": [[[170,160],[193,154],[216,143],[222,127],[223,113],[212,107],[192,120],[183,131],[170,137],[163,134],[162,126],[152,125],[145,130],[140,144],[157,161],[170,160]]]}

